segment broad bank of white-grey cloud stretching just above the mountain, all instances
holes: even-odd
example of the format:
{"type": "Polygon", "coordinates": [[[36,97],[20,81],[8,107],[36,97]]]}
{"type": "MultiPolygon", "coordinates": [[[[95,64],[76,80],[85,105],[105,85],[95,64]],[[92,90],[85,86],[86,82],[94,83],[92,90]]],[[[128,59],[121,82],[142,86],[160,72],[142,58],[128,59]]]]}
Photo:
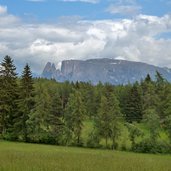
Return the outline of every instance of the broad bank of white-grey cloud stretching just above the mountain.
{"type": "Polygon", "coordinates": [[[67,24],[26,24],[6,11],[0,15],[0,61],[11,55],[17,65],[30,63],[41,72],[46,62],[65,59],[118,58],[171,67],[171,16],[138,15],[134,19],[67,24]]]}

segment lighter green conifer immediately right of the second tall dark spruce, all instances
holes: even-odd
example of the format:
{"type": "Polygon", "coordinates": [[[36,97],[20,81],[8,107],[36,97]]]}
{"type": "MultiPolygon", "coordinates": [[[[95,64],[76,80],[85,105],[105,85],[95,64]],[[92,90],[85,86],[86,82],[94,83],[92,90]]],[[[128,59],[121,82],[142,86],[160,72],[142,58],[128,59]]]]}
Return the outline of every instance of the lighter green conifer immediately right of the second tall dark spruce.
{"type": "MultiPolygon", "coordinates": [[[[50,84],[48,84],[51,87],[50,84]]],[[[48,87],[43,81],[35,85],[34,108],[27,121],[29,138],[33,142],[47,143],[51,125],[49,125],[49,113],[51,110],[51,96],[48,87]]]]}

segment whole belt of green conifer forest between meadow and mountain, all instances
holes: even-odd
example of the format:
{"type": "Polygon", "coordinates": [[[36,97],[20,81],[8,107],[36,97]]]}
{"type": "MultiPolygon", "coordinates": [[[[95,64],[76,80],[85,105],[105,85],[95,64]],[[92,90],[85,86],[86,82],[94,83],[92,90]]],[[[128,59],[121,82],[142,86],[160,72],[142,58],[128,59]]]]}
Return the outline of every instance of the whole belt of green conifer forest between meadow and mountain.
{"type": "Polygon", "coordinates": [[[171,153],[171,83],[158,71],[134,84],[92,85],[0,71],[0,139],[143,153],[171,153]]]}

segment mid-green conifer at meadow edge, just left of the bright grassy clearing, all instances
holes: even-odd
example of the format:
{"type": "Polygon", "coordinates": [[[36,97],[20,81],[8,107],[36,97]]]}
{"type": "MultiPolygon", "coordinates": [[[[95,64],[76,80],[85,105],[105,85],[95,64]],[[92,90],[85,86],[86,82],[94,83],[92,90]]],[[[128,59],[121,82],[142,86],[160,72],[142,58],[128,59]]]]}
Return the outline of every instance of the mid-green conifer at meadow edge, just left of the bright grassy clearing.
{"type": "Polygon", "coordinates": [[[83,121],[85,117],[85,106],[82,100],[81,93],[75,91],[69,97],[66,109],[65,109],[65,123],[69,134],[67,139],[74,136],[76,144],[80,145],[81,131],[83,128],[83,121]]]}

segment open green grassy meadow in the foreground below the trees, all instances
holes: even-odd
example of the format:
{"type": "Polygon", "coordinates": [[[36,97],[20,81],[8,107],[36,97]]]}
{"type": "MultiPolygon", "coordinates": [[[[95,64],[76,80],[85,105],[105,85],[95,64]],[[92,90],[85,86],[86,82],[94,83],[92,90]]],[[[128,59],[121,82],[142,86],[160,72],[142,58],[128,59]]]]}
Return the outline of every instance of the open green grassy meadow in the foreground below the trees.
{"type": "Polygon", "coordinates": [[[171,156],[0,141],[0,171],[171,171],[171,156]]]}

